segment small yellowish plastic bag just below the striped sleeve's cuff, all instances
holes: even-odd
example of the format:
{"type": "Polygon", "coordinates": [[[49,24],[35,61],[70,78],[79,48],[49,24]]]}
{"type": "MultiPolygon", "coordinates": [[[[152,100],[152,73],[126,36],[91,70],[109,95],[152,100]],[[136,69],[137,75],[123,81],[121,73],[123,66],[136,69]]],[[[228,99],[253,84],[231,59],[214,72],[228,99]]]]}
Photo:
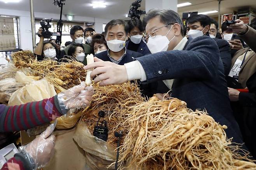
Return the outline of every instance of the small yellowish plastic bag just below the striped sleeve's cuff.
{"type": "Polygon", "coordinates": [[[69,129],[76,125],[77,121],[81,118],[82,111],[77,114],[67,113],[57,118],[57,129],[69,129]]]}

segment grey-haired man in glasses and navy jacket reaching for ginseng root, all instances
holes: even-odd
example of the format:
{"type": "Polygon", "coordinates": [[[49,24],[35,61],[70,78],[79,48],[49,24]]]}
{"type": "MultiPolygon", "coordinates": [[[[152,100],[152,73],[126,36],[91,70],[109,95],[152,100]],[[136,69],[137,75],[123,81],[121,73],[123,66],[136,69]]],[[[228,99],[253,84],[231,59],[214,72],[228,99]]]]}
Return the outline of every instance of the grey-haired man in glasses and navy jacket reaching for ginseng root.
{"type": "MultiPolygon", "coordinates": [[[[182,20],[173,10],[151,10],[144,17],[143,38],[152,54],[119,66],[95,58],[84,69],[95,68],[91,77],[100,85],[121,84],[127,80],[142,83],[163,81],[171,97],[185,101],[188,108],[206,109],[227,136],[242,143],[228,98],[224,68],[216,42],[209,36],[184,37],[182,20]]],[[[162,91],[162,93],[167,92],[162,91]]]]}

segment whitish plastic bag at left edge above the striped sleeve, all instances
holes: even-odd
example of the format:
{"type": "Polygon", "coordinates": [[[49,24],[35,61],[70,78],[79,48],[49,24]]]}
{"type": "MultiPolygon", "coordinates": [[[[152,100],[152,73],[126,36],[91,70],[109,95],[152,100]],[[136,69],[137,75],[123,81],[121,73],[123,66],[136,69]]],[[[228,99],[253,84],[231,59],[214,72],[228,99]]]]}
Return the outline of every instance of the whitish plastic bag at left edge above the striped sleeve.
{"type": "Polygon", "coordinates": [[[15,78],[0,80],[0,103],[8,103],[11,95],[23,86],[25,84],[17,82],[15,78]]]}

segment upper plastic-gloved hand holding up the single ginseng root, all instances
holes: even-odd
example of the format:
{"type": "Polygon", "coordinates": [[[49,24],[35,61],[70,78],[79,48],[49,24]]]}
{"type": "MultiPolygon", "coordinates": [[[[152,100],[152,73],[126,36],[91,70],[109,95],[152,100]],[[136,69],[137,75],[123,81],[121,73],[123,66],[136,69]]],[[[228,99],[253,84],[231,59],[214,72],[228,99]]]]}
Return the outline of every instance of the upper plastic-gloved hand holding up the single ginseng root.
{"type": "Polygon", "coordinates": [[[86,87],[85,82],[58,94],[61,109],[85,108],[92,99],[93,87],[86,87]]]}

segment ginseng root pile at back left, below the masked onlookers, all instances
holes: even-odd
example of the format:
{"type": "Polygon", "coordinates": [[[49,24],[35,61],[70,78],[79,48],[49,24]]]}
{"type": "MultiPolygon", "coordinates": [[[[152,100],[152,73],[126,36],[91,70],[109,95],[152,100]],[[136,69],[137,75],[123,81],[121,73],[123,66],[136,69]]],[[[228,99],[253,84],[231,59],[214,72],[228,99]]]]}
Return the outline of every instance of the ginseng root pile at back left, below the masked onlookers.
{"type": "Polygon", "coordinates": [[[85,81],[86,71],[83,64],[75,60],[68,62],[57,62],[51,59],[37,61],[31,51],[19,51],[12,53],[12,59],[16,67],[30,67],[33,70],[33,76],[46,78],[57,93],[79,85],[85,81]]]}

